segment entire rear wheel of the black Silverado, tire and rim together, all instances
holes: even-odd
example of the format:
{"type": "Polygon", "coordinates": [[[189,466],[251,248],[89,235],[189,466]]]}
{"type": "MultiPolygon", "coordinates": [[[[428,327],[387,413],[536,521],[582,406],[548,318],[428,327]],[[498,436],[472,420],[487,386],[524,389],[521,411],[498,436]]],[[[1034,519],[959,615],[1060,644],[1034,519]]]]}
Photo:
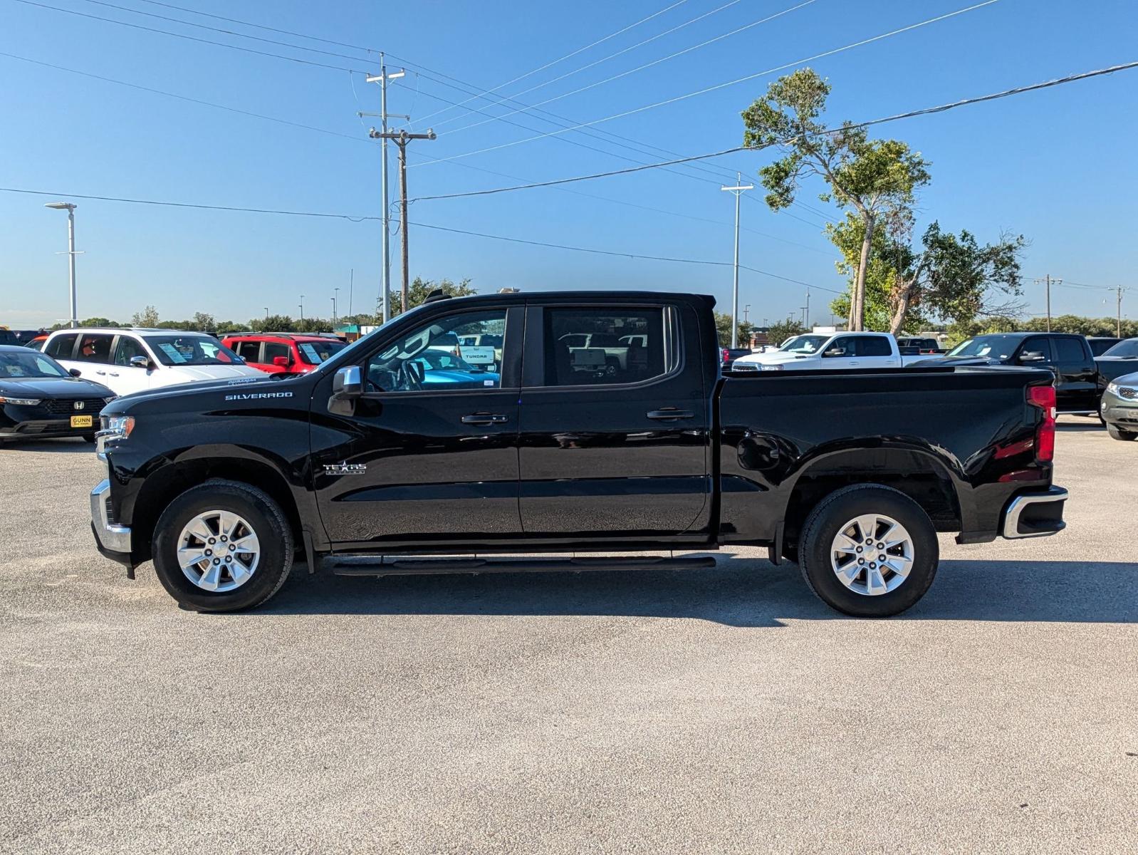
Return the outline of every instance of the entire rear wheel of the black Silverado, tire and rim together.
{"type": "Polygon", "coordinates": [[[806,583],[827,605],[856,617],[889,617],[924,597],[940,548],[921,505],[868,484],[818,503],[802,527],[799,557],[806,583]]]}

